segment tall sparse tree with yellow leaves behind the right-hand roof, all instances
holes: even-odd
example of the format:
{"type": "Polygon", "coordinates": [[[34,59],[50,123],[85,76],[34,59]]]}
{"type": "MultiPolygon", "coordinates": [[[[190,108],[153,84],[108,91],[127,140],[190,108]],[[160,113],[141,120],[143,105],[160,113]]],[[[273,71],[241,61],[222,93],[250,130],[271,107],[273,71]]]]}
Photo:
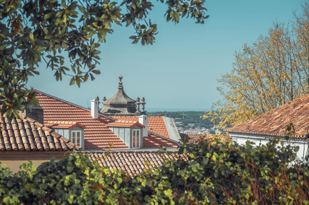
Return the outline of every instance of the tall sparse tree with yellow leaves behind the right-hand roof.
{"type": "Polygon", "coordinates": [[[308,94],[309,4],[290,23],[274,22],[267,35],[235,51],[230,73],[222,75],[210,118],[218,129],[232,127],[308,94]]]}

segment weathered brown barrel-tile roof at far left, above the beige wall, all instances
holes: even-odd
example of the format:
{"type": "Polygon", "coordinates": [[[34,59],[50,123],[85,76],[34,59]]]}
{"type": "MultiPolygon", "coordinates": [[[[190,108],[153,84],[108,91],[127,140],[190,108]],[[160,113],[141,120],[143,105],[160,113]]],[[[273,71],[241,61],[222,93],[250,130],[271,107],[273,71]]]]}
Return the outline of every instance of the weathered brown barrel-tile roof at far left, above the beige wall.
{"type": "Polygon", "coordinates": [[[70,140],[23,114],[9,121],[1,116],[0,151],[72,151],[81,150],[70,140]]]}

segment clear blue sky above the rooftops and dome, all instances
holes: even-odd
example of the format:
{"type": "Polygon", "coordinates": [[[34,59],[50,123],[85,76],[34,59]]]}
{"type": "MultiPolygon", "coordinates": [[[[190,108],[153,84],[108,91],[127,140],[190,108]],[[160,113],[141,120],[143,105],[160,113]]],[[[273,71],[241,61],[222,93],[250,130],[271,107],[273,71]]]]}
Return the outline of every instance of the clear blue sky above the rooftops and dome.
{"type": "Polygon", "coordinates": [[[158,24],[154,45],[131,44],[133,28],[115,24],[114,33],[99,47],[101,65],[97,69],[101,74],[95,81],[82,83],[80,88],[69,86],[69,76],[57,82],[54,72],[42,63],[40,75],[30,78],[27,86],[87,107],[87,100],[97,95],[101,101],[115,94],[121,74],[126,94],[133,99],[144,96],[146,111],[209,110],[221,98],[217,79],[231,71],[235,50],[266,34],[276,19],[292,20],[293,10],[300,13],[303,2],[206,1],[210,17],[205,24],[184,18],[175,25],[164,18],[167,6],[153,1],[147,17],[158,24]]]}

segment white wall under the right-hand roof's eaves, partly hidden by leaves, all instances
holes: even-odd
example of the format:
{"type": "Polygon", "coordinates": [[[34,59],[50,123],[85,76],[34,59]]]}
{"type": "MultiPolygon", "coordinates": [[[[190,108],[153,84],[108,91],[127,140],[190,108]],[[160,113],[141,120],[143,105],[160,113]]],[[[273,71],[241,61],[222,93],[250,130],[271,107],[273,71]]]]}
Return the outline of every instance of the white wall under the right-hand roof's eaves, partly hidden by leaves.
{"type": "MultiPolygon", "coordinates": [[[[260,143],[262,145],[266,145],[266,143],[269,142],[269,139],[271,139],[271,136],[267,135],[249,135],[249,134],[240,134],[240,133],[229,133],[232,137],[232,141],[236,142],[238,144],[245,144],[246,141],[252,141],[258,146],[260,143]]],[[[288,145],[288,142],[282,138],[284,141],[284,146],[286,147],[288,145]]],[[[279,141],[278,146],[281,147],[281,141],[279,141]]],[[[292,146],[299,146],[299,150],[297,151],[297,156],[299,159],[302,159],[304,155],[306,155],[308,144],[307,139],[290,139],[289,140],[290,145],[292,146]]]]}

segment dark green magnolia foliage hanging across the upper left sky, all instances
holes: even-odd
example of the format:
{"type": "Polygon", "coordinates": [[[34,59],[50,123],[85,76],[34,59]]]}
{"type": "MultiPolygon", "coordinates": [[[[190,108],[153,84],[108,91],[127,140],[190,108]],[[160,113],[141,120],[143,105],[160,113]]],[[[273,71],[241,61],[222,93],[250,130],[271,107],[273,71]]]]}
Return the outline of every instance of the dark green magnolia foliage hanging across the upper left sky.
{"type": "MultiPolygon", "coordinates": [[[[160,0],[164,3],[164,0],[160,0]]],[[[208,18],[205,0],[167,0],[167,21],[208,18]]],[[[94,80],[101,43],[112,25],[133,26],[132,43],[153,44],[157,25],[147,19],[153,7],[147,0],[0,0],[0,88],[2,114],[18,117],[20,110],[37,103],[26,89],[28,76],[39,74],[40,62],[57,80],[71,76],[70,85],[94,80]],[[71,66],[64,66],[70,61],[71,66]]]]}

